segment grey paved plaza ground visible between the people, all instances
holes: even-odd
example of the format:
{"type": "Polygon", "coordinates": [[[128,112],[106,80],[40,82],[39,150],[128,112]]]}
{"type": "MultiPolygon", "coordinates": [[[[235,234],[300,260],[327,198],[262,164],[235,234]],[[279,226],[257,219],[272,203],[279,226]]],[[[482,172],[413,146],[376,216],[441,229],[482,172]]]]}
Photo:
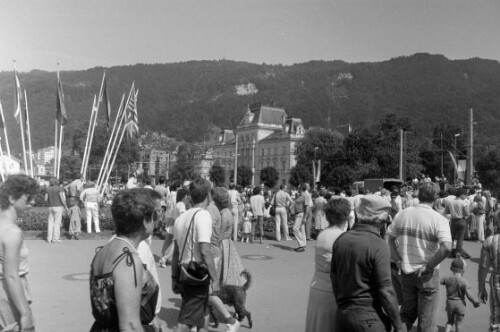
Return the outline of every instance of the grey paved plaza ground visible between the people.
{"type": "MultiPolygon", "coordinates": [[[[88,331],[93,323],[88,287],[88,272],[95,248],[106,241],[80,240],[48,244],[27,240],[30,251],[28,276],[34,297],[33,311],[38,332],[88,331]]],[[[153,241],[153,252],[160,252],[162,241],[153,241]]],[[[295,241],[264,244],[237,244],[243,264],[253,275],[247,294],[247,309],[252,313],[254,326],[248,329],[245,320],[240,331],[303,332],[309,282],[314,269],[314,241],[304,253],[296,253],[295,241]]],[[[465,242],[472,255],[467,261],[465,277],[472,293],[477,295],[477,266],[479,243],[465,242]]],[[[451,259],[441,267],[441,276],[449,274],[451,259]]],[[[163,292],[160,317],[172,329],[177,320],[180,297],[170,288],[170,268],[158,268],[163,292]]],[[[441,287],[438,312],[439,331],[446,323],[445,290],[441,287]]],[[[468,303],[464,331],[486,331],[489,308],[478,309],[468,303]]],[[[212,331],[224,331],[223,325],[212,331]]],[[[326,332],[326,331],[325,331],[326,332]]]]}

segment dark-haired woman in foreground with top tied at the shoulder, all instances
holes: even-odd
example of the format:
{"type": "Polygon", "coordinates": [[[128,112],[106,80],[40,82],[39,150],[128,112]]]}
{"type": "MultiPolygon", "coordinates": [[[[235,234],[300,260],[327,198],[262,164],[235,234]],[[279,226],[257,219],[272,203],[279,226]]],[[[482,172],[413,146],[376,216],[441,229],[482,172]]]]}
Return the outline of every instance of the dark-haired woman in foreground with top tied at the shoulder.
{"type": "Polygon", "coordinates": [[[159,287],[137,253],[160,214],[160,195],[134,188],[116,194],[111,213],[116,237],[94,257],[90,270],[90,300],[95,323],[91,331],[155,331],[159,287]]]}

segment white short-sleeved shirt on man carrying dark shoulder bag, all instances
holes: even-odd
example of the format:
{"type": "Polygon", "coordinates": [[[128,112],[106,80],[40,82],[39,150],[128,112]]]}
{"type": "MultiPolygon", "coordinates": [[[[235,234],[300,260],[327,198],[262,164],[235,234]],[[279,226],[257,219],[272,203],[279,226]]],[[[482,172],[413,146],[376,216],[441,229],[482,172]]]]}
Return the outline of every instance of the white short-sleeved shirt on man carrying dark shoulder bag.
{"type": "Polygon", "coordinates": [[[201,208],[189,209],[186,213],[181,214],[174,223],[173,235],[179,247],[179,255],[182,253],[186,235],[188,235],[189,224],[195,213],[193,227],[189,232],[189,237],[187,237],[186,248],[182,257],[179,257],[181,263],[189,263],[191,257],[193,257],[194,261],[201,262],[202,256],[199,244],[210,243],[212,236],[212,217],[210,213],[201,208]],[[196,213],[196,211],[198,212],[196,213]]]}

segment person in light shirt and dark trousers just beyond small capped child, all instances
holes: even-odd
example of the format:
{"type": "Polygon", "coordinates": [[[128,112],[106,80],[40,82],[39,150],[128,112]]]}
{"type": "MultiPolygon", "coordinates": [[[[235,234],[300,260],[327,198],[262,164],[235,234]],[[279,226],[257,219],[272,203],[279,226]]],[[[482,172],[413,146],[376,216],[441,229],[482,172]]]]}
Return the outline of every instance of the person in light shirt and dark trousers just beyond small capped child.
{"type": "Polygon", "coordinates": [[[470,258],[470,255],[463,249],[463,241],[465,236],[466,219],[469,217],[469,204],[465,200],[467,189],[458,189],[457,197],[450,200],[444,209],[444,214],[450,215],[451,238],[457,241],[455,249],[451,253],[451,257],[455,258],[460,255],[464,258],[470,258]]]}

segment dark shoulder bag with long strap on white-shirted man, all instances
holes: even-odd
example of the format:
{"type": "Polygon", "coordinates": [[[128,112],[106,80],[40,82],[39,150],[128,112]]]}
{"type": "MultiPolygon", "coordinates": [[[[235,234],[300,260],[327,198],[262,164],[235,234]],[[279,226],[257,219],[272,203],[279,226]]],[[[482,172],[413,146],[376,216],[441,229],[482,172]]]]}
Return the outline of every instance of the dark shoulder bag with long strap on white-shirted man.
{"type": "MultiPolygon", "coordinates": [[[[198,210],[200,211],[200,210],[198,210]]],[[[189,224],[188,232],[186,234],[186,240],[184,241],[184,246],[182,247],[181,255],[179,257],[179,262],[182,261],[182,256],[184,254],[184,249],[186,248],[186,243],[188,241],[189,232],[193,227],[194,217],[198,213],[196,211],[191,218],[191,223],[189,224]]],[[[191,247],[191,260],[187,264],[179,263],[179,283],[183,285],[191,286],[203,286],[210,283],[210,275],[208,274],[208,266],[204,263],[198,263],[193,259],[194,250],[194,232],[192,235],[192,247],[191,247]]]]}

